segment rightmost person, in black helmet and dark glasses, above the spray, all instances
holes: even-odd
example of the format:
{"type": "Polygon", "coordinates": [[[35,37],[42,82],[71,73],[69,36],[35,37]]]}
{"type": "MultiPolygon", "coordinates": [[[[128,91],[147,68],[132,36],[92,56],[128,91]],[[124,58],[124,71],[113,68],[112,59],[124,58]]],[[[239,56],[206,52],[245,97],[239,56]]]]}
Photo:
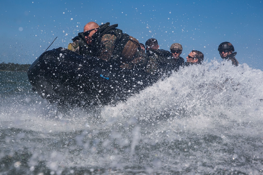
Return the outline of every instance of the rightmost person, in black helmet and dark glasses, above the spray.
{"type": "Polygon", "coordinates": [[[229,42],[223,42],[218,46],[218,51],[222,59],[231,60],[232,65],[238,66],[239,62],[236,60],[236,52],[234,46],[229,42]]]}

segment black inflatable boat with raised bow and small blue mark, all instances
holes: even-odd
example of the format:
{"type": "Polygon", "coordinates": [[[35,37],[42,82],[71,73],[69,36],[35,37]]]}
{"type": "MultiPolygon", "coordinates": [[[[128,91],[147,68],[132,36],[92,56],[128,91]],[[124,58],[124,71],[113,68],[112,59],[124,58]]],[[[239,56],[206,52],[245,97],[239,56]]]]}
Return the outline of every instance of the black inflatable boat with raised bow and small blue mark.
{"type": "Polygon", "coordinates": [[[41,54],[30,66],[28,79],[33,91],[50,103],[80,106],[125,101],[156,81],[145,68],[122,69],[61,47],[41,54]]]}

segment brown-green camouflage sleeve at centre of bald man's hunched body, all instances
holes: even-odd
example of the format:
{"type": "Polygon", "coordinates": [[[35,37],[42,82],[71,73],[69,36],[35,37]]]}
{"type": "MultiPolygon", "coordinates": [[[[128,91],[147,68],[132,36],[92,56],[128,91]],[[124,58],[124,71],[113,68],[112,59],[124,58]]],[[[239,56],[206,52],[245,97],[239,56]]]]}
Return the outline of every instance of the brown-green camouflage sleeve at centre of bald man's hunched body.
{"type": "Polygon", "coordinates": [[[112,54],[113,54],[115,42],[116,42],[115,35],[112,34],[103,35],[100,41],[100,54],[98,58],[101,58],[103,60],[108,60],[110,62],[114,62],[115,60],[112,60],[112,54]]]}

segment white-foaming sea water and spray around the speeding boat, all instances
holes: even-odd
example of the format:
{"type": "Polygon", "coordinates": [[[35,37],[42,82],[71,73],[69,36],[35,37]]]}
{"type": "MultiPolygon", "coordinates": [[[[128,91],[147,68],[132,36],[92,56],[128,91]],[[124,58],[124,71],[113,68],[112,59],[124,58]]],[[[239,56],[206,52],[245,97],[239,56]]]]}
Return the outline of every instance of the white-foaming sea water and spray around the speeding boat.
{"type": "Polygon", "coordinates": [[[0,174],[261,174],[263,72],[213,60],[125,102],[49,104],[0,72],[0,174]]]}

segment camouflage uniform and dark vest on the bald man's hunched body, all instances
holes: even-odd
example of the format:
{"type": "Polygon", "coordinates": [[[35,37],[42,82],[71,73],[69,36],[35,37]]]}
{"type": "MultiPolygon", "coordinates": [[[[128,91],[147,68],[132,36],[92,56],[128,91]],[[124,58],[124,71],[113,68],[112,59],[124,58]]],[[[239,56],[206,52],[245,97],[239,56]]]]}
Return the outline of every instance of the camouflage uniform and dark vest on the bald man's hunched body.
{"type": "Polygon", "coordinates": [[[119,65],[121,68],[131,69],[137,66],[145,69],[149,58],[141,49],[138,40],[122,33],[122,30],[116,28],[117,26],[118,24],[109,25],[109,23],[100,25],[98,31],[92,35],[93,56],[119,65]]]}

